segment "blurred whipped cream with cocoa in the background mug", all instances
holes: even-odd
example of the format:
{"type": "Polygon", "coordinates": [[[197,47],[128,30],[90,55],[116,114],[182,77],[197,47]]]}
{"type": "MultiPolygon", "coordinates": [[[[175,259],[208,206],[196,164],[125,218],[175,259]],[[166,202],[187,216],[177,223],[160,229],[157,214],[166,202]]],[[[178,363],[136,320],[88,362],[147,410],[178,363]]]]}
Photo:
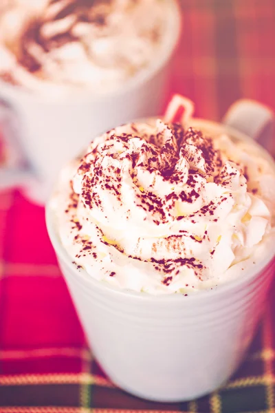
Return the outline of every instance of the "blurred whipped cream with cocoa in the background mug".
{"type": "Polygon", "coordinates": [[[106,92],[164,50],[166,0],[14,0],[0,8],[0,77],[39,93],[106,92]]]}

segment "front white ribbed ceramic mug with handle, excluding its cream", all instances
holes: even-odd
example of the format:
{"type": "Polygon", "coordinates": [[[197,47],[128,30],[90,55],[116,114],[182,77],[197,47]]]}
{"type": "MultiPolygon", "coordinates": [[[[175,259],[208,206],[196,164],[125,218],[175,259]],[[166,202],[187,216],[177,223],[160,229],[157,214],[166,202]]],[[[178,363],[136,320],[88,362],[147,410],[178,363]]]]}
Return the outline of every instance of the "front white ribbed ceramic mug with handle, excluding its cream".
{"type": "MultiPolygon", "coordinates": [[[[223,124],[199,119],[190,124],[256,145],[251,138],[263,138],[260,131],[273,121],[269,109],[241,100],[223,124]],[[234,127],[248,131],[250,138],[234,127]]],[[[260,146],[259,152],[275,170],[271,156],[260,146]]],[[[113,383],[145,399],[184,401],[212,392],[230,378],[263,314],[274,251],[217,290],[151,296],[118,290],[77,270],[58,237],[51,202],[46,220],[89,344],[113,383]]]]}

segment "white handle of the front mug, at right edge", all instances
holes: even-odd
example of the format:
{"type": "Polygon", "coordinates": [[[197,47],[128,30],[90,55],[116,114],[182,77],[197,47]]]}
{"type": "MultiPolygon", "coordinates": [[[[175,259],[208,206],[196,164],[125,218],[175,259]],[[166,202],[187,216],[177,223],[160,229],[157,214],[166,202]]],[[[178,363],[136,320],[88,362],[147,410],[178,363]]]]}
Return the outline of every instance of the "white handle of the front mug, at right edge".
{"type": "Polygon", "coordinates": [[[275,156],[275,116],[256,100],[240,99],[230,106],[222,123],[250,136],[275,156]]]}

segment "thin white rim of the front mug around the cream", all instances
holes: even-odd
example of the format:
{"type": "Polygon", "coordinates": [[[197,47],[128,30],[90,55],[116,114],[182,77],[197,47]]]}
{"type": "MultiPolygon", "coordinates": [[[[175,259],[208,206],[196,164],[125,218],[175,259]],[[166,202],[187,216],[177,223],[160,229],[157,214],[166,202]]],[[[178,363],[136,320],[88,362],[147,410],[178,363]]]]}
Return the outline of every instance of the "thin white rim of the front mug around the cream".
{"type": "MultiPolygon", "coordinates": [[[[147,120],[153,120],[157,118],[157,116],[152,116],[148,118],[147,120]]],[[[141,122],[142,119],[140,120],[135,120],[135,122],[141,122]]],[[[144,119],[143,119],[144,121],[144,119]]],[[[203,118],[191,118],[188,123],[192,123],[194,121],[195,124],[208,124],[217,129],[218,131],[221,131],[221,133],[229,134],[232,136],[235,136],[237,139],[244,140],[244,141],[250,141],[252,144],[256,147],[258,147],[261,150],[261,153],[263,153],[263,156],[267,158],[267,160],[270,162],[272,165],[274,171],[275,171],[275,160],[270,156],[270,154],[263,148],[261,145],[259,145],[258,142],[250,138],[249,136],[246,136],[242,132],[232,128],[228,127],[228,125],[224,125],[223,123],[219,122],[214,122],[212,120],[206,120],[203,118]]],[[[75,264],[73,264],[72,260],[73,258],[70,257],[69,253],[67,253],[67,250],[65,246],[61,243],[60,237],[58,235],[57,231],[57,226],[55,225],[55,219],[54,219],[54,209],[51,207],[51,202],[52,198],[54,196],[55,191],[52,191],[52,194],[50,195],[49,200],[47,201],[45,205],[45,221],[46,221],[46,226],[47,226],[47,232],[50,237],[50,241],[52,243],[52,246],[54,247],[54,251],[56,253],[56,256],[58,257],[58,260],[61,258],[61,260],[69,267],[69,270],[74,273],[74,276],[78,277],[79,279],[85,278],[91,286],[94,286],[98,288],[98,290],[102,290],[103,293],[109,293],[111,295],[115,295],[116,297],[122,296],[124,299],[142,299],[146,301],[157,301],[157,302],[168,302],[168,301],[175,301],[175,300],[182,300],[182,299],[187,299],[188,301],[190,300],[201,300],[203,297],[207,298],[215,298],[218,295],[222,293],[228,293],[235,288],[241,288],[245,282],[249,282],[250,279],[253,279],[257,274],[260,274],[261,271],[263,271],[267,266],[269,267],[270,265],[273,264],[274,258],[275,258],[275,251],[270,251],[263,257],[263,260],[260,262],[257,262],[254,264],[254,266],[246,269],[243,271],[240,277],[233,278],[229,280],[228,282],[223,282],[221,284],[218,284],[217,287],[214,287],[212,289],[207,289],[207,288],[201,288],[201,290],[196,291],[195,293],[192,293],[188,295],[188,297],[184,297],[182,294],[177,294],[177,293],[168,293],[168,294],[159,294],[159,295],[153,295],[153,294],[148,294],[144,293],[142,291],[134,291],[134,290],[129,290],[126,288],[120,288],[118,286],[112,286],[111,284],[104,283],[101,280],[98,280],[94,278],[92,275],[89,275],[87,271],[83,268],[77,269],[75,264]]],[[[61,271],[62,272],[62,271],[61,271]]]]}

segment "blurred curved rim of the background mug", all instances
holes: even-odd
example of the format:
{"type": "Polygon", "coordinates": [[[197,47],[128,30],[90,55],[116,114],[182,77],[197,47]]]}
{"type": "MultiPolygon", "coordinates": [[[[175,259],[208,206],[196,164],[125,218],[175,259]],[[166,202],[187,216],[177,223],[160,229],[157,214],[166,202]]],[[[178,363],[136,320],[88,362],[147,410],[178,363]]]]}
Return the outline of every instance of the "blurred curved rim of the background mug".
{"type": "Polygon", "coordinates": [[[3,96],[5,99],[8,99],[10,96],[14,98],[27,98],[32,101],[50,104],[50,105],[61,105],[69,103],[98,103],[101,100],[117,98],[117,96],[121,96],[126,94],[127,92],[131,92],[144,83],[151,81],[151,79],[161,72],[164,67],[168,64],[171,57],[173,56],[177,45],[179,43],[180,34],[182,32],[182,25],[183,19],[181,17],[181,9],[179,6],[178,0],[166,0],[167,4],[172,4],[172,8],[170,8],[170,22],[168,24],[166,37],[168,39],[167,42],[164,42],[164,50],[162,53],[159,54],[159,58],[155,59],[156,62],[152,61],[147,65],[144,70],[140,70],[135,74],[133,77],[126,81],[125,83],[122,82],[118,89],[114,89],[111,92],[104,92],[94,93],[92,91],[85,91],[85,87],[79,93],[69,93],[62,95],[61,98],[49,98],[41,94],[36,94],[36,92],[32,92],[24,87],[14,86],[9,84],[8,82],[1,81],[0,78],[0,97],[3,92],[3,96]],[[8,96],[9,95],[9,96],[8,96]]]}

